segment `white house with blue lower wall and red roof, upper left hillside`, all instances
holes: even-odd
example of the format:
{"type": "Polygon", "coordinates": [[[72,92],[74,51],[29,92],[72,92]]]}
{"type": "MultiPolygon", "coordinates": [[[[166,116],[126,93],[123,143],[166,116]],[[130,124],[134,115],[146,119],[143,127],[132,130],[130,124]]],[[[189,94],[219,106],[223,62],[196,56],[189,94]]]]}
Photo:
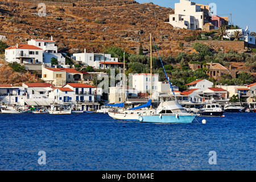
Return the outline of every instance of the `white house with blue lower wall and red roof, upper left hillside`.
{"type": "Polygon", "coordinates": [[[60,65],[65,65],[65,57],[58,53],[58,47],[55,46],[55,41],[51,36],[51,40],[39,40],[39,39],[31,39],[28,41],[28,45],[33,45],[43,49],[43,63],[51,66],[51,58],[55,57],[60,65]]]}

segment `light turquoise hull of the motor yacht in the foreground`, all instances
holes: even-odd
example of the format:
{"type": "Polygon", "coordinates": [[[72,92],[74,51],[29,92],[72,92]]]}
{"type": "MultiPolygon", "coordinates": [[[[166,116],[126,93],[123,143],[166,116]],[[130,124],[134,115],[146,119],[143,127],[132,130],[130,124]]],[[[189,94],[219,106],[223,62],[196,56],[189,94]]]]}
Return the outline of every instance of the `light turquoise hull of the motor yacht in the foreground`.
{"type": "Polygon", "coordinates": [[[192,123],[196,115],[146,115],[139,118],[140,122],[152,123],[192,123]]]}

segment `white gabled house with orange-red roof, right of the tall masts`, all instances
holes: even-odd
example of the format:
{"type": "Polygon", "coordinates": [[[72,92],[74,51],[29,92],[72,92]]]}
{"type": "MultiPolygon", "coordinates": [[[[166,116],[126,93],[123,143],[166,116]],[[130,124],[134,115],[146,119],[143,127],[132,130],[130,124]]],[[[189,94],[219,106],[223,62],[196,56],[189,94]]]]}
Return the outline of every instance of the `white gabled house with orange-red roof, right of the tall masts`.
{"type": "Polygon", "coordinates": [[[213,82],[209,80],[201,79],[201,80],[196,80],[187,84],[187,89],[189,90],[197,89],[196,92],[201,94],[202,92],[204,92],[204,90],[208,88],[212,88],[212,86],[213,86],[213,82]]]}

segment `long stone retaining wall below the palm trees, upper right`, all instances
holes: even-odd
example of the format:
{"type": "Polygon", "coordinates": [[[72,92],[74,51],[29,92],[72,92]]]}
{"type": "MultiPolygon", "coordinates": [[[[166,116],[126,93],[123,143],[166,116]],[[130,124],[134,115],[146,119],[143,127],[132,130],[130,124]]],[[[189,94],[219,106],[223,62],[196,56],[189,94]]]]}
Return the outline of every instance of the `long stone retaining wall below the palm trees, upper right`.
{"type": "Polygon", "coordinates": [[[199,43],[207,44],[210,48],[221,48],[225,52],[229,50],[234,50],[236,52],[245,51],[245,42],[243,41],[225,41],[225,40],[198,40],[199,43]]]}

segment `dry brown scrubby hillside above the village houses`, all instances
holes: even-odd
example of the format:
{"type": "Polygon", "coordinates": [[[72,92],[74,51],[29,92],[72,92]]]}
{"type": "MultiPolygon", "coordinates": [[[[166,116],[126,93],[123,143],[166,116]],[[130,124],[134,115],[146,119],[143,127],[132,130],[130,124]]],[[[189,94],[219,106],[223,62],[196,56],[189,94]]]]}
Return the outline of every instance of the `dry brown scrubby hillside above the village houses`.
{"type": "Polygon", "coordinates": [[[49,39],[51,35],[62,51],[103,52],[118,46],[126,52],[138,52],[142,42],[149,47],[150,33],[156,39],[161,54],[176,54],[179,41],[200,31],[175,30],[166,23],[174,10],[152,3],[133,0],[85,0],[75,6],[47,5],[47,16],[38,16],[40,8],[34,1],[0,2],[0,35],[6,43],[27,43],[29,39],[49,39]]]}

